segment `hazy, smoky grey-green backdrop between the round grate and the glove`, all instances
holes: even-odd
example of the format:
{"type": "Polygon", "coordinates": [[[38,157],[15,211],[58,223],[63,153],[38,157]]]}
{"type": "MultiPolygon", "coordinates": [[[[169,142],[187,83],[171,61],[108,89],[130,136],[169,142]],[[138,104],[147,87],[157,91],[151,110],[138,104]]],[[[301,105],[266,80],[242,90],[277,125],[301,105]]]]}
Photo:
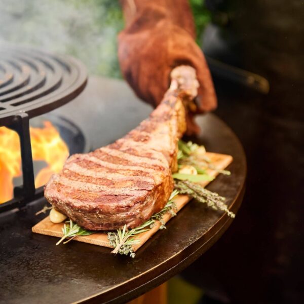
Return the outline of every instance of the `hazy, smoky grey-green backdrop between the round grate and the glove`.
{"type": "Polygon", "coordinates": [[[0,2],[0,42],[73,55],[98,75],[120,77],[117,33],[122,27],[115,0],[0,2]]]}

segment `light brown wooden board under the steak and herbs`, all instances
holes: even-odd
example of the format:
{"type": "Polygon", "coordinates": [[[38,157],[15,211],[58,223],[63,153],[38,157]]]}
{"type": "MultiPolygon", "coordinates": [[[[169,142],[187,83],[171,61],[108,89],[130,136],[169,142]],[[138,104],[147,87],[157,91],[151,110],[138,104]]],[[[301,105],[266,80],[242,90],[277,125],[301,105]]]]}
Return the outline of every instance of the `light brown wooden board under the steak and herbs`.
{"type": "MultiPolygon", "coordinates": [[[[233,158],[230,155],[207,152],[206,156],[211,160],[212,164],[217,169],[220,169],[220,170],[225,169],[233,161],[233,158]]],[[[215,170],[207,170],[207,172],[209,175],[214,176],[214,177],[218,175],[218,172],[215,170]]],[[[201,182],[200,184],[203,186],[206,186],[209,182],[210,181],[204,181],[204,182],[201,182]]],[[[191,198],[189,198],[186,195],[176,196],[174,199],[174,202],[176,205],[175,212],[177,213],[179,210],[181,210],[181,208],[183,206],[185,206],[190,200],[191,200],[191,198]]],[[[170,212],[168,212],[168,213],[164,214],[163,220],[165,222],[168,222],[171,217],[172,217],[172,215],[170,214],[170,212]]],[[[61,229],[62,229],[63,225],[64,225],[64,223],[58,223],[58,224],[52,223],[50,220],[50,217],[47,216],[45,219],[43,219],[42,221],[40,221],[39,223],[35,224],[32,227],[32,232],[61,238],[62,237],[61,229]]],[[[137,235],[137,238],[140,240],[140,244],[133,245],[133,250],[136,251],[138,248],[140,248],[151,236],[153,236],[159,230],[160,226],[161,226],[161,223],[159,221],[156,221],[153,228],[137,235]]],[[[109,241],[107,238],[107,233],[105,233],[105,232],[98,232],[98,233],[95,233],[95,234],[92,234],[89,236],[84,236],[84,237],[75,237],[73,240],[112,248],[111,245],[109,244],[109,241]]]]}

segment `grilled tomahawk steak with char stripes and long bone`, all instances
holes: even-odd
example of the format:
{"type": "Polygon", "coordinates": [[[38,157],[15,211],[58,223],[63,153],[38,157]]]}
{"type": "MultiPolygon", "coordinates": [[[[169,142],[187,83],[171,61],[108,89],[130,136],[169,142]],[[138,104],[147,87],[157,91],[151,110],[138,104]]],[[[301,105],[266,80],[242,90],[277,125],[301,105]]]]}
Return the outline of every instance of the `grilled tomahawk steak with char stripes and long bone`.
{"type": "Polygon", "coordinates": [[[196,91],[179,86],[186,83],[183,73],[195,79],[194,69],[177,71],[148,119],[110,145],[71,156],[52,175],[45,197],[56,209],[87,230],[114,230],[136,227],[165,206],[173,191],[177,141],[186,128],[182,99],[196,91]]]}

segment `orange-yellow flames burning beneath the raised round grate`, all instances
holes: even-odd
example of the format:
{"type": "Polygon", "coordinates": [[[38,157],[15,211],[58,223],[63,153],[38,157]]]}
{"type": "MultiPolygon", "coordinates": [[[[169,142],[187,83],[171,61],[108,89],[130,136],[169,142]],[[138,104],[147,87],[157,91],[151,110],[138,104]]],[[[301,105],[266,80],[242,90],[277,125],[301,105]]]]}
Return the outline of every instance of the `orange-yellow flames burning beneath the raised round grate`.
{"type": "MultiPolygon", "coordinates": [[[[44,128],[30,127],[32,156],[35,161],[45,161],[47,167],[35,178],[35,187],[48,182],[53,173],[58,173],[69,151],[56,128],[48,121],[44,128]]],[[[21,154],[18,134],[8,128],[0,128],[0,203],[13,197],[13,178],[20,176],[21,154]]]]}

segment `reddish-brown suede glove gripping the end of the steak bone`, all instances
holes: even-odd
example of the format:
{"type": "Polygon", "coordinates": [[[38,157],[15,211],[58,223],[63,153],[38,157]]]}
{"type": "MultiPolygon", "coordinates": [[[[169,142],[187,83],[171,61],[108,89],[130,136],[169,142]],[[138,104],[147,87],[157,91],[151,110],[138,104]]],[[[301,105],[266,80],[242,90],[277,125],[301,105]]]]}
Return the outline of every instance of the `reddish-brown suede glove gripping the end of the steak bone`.
{"type": "MultiPolygon", "coordinates": [[[[187,0],[123,0],[126,28],[119,34],[123,75],[136,95],[157,106],[170,85],[171,70],[181,64],[196,69],[200,83],[197,110],[216,107],[211,75],[201,49],[187,0]]],[[[199,132],[195,113],[188,112],[187,134],[199,132]]]]}

